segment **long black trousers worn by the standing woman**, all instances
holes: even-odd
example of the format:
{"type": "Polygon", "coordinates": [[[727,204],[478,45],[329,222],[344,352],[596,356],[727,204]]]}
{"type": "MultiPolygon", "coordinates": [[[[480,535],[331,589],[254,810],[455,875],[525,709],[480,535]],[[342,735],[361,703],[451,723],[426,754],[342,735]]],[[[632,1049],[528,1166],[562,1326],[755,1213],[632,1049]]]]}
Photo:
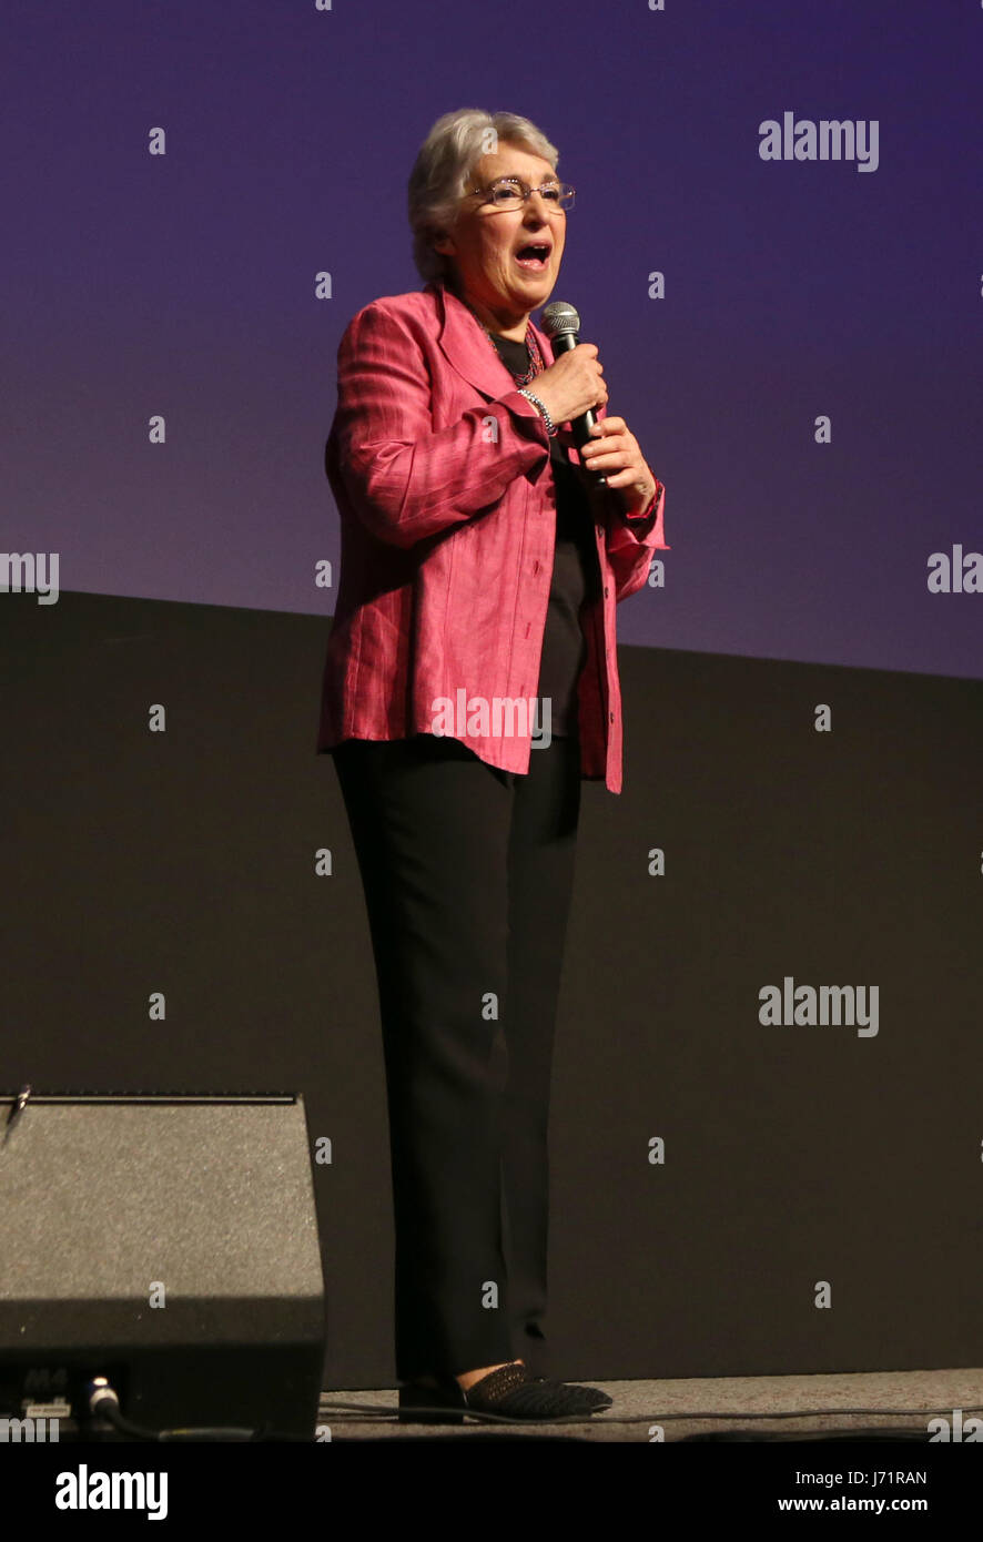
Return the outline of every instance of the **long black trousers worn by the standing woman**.
{"type": "Polygon", "coordinates": [[[457,739],[333,751],[389,1103],[400,1382],[546,1343],[548,1112],[580,814],[576,736],[498,771],[457,739]]]}

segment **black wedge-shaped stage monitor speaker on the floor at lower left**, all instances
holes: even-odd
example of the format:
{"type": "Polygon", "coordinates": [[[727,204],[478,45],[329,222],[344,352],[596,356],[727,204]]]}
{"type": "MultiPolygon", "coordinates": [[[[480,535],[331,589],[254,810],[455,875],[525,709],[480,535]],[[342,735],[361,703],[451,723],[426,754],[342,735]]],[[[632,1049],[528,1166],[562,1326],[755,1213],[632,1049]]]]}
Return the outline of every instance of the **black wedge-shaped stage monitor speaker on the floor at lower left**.
{"type": "Polygon", "coordinates": [[[301,1096],[0,1096],[0,1416],[313,1439],[324,1337],[301,1096]]]}

